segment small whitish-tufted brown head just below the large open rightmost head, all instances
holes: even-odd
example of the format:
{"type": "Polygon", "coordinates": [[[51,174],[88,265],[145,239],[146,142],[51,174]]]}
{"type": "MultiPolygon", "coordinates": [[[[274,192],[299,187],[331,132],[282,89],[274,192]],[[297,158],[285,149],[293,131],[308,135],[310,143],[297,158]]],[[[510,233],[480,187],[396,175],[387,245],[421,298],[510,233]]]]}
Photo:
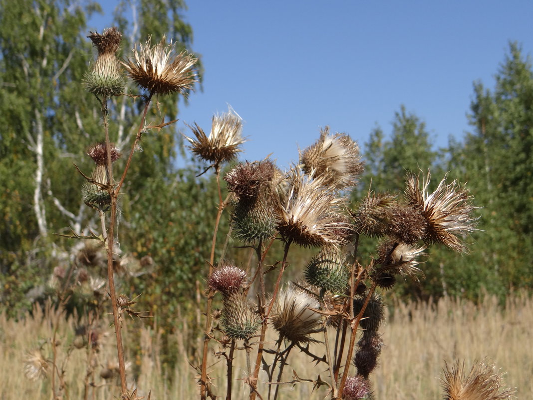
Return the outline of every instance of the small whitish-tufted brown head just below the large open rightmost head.
{"type": "Polygon", "coordinates": [[[418,282],[418,276],[424,277],[423,271],[417,267],[426,253],[425,246],[416,246],[406,243],[398,243],[387,239],[378,245],[377,263],[386,267],[386,271],[392,274],[408,276],[418,282]]]}

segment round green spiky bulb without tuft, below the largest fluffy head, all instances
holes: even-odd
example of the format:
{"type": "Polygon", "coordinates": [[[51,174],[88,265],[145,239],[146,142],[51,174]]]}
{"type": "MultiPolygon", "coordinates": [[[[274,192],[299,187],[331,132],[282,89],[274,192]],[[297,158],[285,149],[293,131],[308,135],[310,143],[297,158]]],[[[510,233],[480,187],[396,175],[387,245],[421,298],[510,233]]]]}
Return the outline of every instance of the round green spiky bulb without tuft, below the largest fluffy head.
{"type": "Polygon", "coordinates": [[[350,270],[340,251],[322,250],[305,269],[305,281],[333,293],[344,293],[348,287],[350,270]]]}

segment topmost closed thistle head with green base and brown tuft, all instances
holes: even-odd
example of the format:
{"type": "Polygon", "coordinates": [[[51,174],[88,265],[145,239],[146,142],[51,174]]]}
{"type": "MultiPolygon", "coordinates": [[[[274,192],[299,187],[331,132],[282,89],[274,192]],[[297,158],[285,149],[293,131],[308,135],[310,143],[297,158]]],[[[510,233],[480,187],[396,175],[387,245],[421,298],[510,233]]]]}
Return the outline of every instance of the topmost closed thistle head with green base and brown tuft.
{"type": "Polygon", "coordinates": [[[117,59],[122,34],[117,28],[104,29],[103,34],[91,32],[88,36],[98,49],[98,58],[85,75],[85,86],[91,93],[101,96],[118,96],[122,93],[125,78],[117,59]]]}

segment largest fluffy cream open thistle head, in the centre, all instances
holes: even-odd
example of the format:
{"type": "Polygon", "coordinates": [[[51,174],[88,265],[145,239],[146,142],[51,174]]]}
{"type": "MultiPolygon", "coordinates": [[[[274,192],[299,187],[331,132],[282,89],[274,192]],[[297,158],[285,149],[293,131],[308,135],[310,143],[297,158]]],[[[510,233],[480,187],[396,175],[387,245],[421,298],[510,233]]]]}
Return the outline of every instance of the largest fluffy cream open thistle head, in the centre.
{"type": "Polygon", "coordinates": [[[324,186],[324,178],[312,179],[297,169],[292,170],[286,200],[279,198],[279,233],[286,241],[301,246],[338,246],[345,244],[346,236],[339,235],[350,229],[343,221],[343,199],[324,186]]]}

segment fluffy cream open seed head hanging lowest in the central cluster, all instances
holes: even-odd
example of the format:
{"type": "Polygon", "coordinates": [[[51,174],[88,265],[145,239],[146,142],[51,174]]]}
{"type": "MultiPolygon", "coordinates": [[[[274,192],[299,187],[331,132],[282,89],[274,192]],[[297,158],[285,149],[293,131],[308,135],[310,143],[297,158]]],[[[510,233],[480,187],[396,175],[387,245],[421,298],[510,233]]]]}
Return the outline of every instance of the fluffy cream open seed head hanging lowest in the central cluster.
{"type": "Polygon", "coordinates": [[[314,341],[310,335],[321,331],[321,316],[309,307],[319,308],[320,303],[303,290],[288,286],[279,293],[271,321],[280,340],[295,344],[314,341]]]}

